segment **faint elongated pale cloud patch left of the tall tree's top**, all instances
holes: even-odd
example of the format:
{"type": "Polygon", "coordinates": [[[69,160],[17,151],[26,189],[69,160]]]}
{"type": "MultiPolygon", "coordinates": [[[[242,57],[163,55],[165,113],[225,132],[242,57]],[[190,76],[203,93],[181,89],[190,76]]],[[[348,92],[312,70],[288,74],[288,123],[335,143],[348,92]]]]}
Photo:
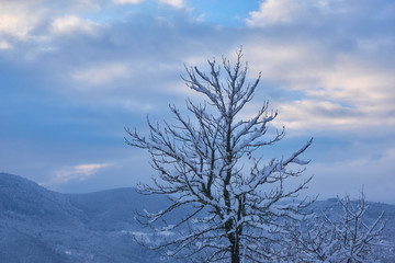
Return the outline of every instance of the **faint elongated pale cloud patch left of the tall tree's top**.
{"type": "Polygon", "coordinates": [[[93,66],[88,69],[80,70],[72,75],[78,81],[92,85],[105,84],[111,81],[128,77],[131,70],[125,64],[109,64],[102,66],[93,66]]]}

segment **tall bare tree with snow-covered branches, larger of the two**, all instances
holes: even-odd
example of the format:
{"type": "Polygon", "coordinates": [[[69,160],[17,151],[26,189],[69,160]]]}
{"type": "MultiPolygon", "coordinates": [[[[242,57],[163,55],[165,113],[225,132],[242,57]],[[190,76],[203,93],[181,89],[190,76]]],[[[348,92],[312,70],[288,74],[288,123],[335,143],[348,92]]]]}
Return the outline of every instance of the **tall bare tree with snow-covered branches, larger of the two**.
{"type": "Polygon", "coordinates": [[[302,219],[311,203],[307,198],[295,201],[311,176],[297,184],[287,182],[305,170],[308,161],[300,156],[312,139],[289,158],[263,163],[258,149],[281,140],[284,128],[268,133],[269,123],[278,116],[268,111],[268,102],[242,119],[242,110],[252,100],[261,76],[248,83],[247,62],[241,61],[241,50],[236,55],[234,66],[224,57],[219,65],[208,60],[208,75],[185,67],[187,85],[205,98],[200,104],[187,100],[192,119],[170,105],[176,124],[163,122],[161,126],[148,119],[147,137],[126,128],[126,142],[148,150],[158,171],[154,184],[140,185],[140,190],[171,198],[166,209],[147,211],[146,222],[154,226],[178,209],[190,211],[176,224],[156,229],[172,233],[179,229],[160,244],[150,245],[167,256],[190,261],[199,256],[199,262],[276,261],[282,256],[282,227],[287,220],[302,219]]]}

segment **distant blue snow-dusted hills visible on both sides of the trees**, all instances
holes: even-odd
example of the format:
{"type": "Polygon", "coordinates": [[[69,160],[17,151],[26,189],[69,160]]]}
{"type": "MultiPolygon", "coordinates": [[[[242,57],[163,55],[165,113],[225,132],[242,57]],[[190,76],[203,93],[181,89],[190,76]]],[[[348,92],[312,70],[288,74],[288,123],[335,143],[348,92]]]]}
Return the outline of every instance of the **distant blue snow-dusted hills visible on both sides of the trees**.
{"type": "MultiPolygon", "coordinates": [[[[60,194],[21,176],[0,173],[0,262],[166,262],[136,244],[134,233],[148,233],[149,229],[134,220],[134,213],[144,208],[155,211],[167,204],[163,196],[140,195],[135,188],[60,194]]],[[[316,202],[313,209],[340,214],[334,199],[316,202]]],[[[386,213],[385,235],[392,245],[385,253],[394,254],[395,206],[370,203],[366,219],[382,210],[386,213]]],[[[386,258],[383,262],[395,262],[394,255],[386,258]]]]}

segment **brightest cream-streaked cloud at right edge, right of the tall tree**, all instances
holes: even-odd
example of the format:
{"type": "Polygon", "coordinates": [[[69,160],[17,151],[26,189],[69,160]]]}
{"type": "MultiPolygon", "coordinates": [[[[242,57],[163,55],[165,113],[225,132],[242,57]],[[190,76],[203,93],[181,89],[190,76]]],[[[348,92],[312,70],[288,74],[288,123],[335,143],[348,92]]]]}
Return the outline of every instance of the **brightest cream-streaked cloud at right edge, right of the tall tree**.
{"type": "Polygon", "coordinates": [[[293,69],[287,85],[304,98],[279,105],[291,128],[358,130],[395,127],[395,77],[392,69],[354,58],[319,69],[293,69]]]}

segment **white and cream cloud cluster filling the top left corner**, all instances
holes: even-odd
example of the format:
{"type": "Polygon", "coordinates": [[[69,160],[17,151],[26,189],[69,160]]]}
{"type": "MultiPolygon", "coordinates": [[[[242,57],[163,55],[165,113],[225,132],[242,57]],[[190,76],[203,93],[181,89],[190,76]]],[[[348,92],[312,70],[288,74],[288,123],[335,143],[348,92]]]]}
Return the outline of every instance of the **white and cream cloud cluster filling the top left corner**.
{"type": "Polygon", "coordinates": [[[30,53],[25,58],[35,57],[37,49],[52,50],[56,36],[71,33],[93,35],[99,26],[81,18],[81,14],[100,10],[93,0],[0,0],[0,48],[13,47],[20,55],[30,53]]]}

